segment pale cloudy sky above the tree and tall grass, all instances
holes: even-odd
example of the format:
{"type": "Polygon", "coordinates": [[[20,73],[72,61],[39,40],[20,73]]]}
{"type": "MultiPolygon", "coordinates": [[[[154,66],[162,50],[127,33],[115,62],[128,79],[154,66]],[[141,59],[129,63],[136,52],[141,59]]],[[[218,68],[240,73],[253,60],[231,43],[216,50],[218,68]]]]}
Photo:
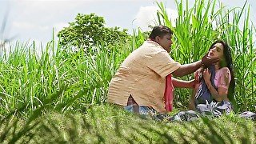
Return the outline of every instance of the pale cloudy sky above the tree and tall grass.
{"type": "MultiPolygon", "coordinates": [[[[54,35],[74,22],[78,13],[95,13],[107,27],[118,26],[129,33],[138,27],[149,30],[158,6],[164,2],[171,18],[178,16],[174,0],[0,0],[0,39],[20,42],[52,40],[54,35]],[[3,26],[6,23],[6,26],[3,26]],[[4,27],[4,30],[2,30],[4,27]]],[[[189,0],[193,5],[194,0],[189,0]]],[[[227,8],[242,7],[246,0],[221,0],[227,8]]],[[[256,22],[256,2],[248,0],[250,18],[256,22]]]]}

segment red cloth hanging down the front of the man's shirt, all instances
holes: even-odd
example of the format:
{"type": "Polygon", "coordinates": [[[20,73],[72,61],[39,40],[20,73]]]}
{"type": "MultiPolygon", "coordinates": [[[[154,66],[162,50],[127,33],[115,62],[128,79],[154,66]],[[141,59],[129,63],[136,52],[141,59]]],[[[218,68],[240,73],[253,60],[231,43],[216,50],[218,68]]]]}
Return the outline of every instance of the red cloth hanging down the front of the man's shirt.
{"type": "Polygon", "coordinates": [[[165,104],[166,104],[166,111],[170,112],[173,110],[173,100],[174,100],[174,86],[171,82],[171,74],[166,76],[166,90],[165,90],[165,104]]]}

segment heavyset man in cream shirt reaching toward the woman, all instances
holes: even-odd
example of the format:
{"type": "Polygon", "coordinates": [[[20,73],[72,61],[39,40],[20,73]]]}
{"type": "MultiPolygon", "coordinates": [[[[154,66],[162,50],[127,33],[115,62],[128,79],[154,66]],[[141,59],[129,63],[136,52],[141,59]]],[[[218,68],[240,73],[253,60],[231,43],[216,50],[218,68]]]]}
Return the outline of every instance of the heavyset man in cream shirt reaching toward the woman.
{"type": "Polygon", "coordinates": [[[156,110],[166,113],[172,110],[173,86],[193,87],[193,82],[171,78],[192,74],[203,65],[218,60],[206,58],[181,65],[170,58],[173,32],[167,26],[155,26],[150,37],[134,50],[117,70],[110,82],[107,101],[120,106],[130,106],[131,111],[141,113],[156,110]]]}

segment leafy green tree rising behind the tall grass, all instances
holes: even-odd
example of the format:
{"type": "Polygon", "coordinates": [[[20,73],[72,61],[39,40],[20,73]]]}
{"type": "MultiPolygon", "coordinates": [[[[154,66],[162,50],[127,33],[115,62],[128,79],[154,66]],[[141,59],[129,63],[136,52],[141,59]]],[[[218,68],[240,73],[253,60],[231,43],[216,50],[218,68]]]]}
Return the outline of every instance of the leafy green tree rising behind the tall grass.
{"type": "Polygon", "coordinates": [[[65,48],[76,47],[78,49],[95,46],[97,43],[113,45],[125,43],[129,40],[127,30],[119,30],[119,27],[105,27],[105,20],[96,14],[78,14],[70,26],[59,31],[60,45],[65,48]]]}

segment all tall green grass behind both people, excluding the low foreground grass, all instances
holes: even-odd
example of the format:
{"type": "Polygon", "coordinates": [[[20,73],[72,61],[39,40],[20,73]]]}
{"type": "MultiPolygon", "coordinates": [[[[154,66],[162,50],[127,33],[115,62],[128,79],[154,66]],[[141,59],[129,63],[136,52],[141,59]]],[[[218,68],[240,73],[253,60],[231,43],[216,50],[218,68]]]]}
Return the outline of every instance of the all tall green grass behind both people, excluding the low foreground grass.
{"type": "MultiPolygon", "coordinates": [[[[178,8],[175,26],[165,6],[157,3],[158,24],[174,30],[171,56],[183,64],[194,62],[206,53],[214,40],[224,39],[231,46],[234,58],[237,84],[234,98],[238,110],[255,111],[255,27],[250,23],[246,3],[242,8],[226,10],[222,5],[217,8],[216,1],[196,1],[191,8],[189,1],[175,2],[178,8]]],[[[110,79],[118,66],[144,40],[145,35],[139,30],[134,32],[130,43],[98,44],[87,52],[62,50],[54,38],[44,48],[20,42],[8,50],[6,47],[0,58],[0,114],[26,106],[27,111],[23,113],[26,116],[63,87],[63,93],[52,102],[53,109],[67,104],[62,111],[86,110],[91,105],[105,103],[110,79]],[[42,50],[40,56],[37,50],[42,50]]],[[[184,77],[190,78],[192,75],[184,77]]],[[[175,106],[186,107],[190,94],[189,90],[177,89],[175,106]]]]}

